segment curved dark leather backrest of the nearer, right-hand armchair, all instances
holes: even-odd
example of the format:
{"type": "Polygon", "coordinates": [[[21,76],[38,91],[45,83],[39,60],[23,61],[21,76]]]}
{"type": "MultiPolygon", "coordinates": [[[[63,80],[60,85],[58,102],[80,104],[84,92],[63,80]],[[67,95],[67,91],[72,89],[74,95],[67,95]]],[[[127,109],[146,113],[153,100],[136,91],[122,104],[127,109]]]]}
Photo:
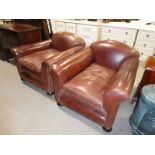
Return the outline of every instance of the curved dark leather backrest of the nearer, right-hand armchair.
{"type": "Polygon", "coordinates": [[[118,41],[97,41],[90,45],[96,63],[118,70],[121,63],[128,57],[137,56],[135,49],[118,41]]]}

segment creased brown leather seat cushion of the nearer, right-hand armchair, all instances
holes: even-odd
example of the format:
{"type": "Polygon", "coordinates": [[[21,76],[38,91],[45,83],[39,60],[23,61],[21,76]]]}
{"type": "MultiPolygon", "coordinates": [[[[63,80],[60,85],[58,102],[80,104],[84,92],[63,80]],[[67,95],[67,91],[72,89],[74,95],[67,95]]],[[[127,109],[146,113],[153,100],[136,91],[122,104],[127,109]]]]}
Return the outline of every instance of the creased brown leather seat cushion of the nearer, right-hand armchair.
{"type": "Polygon", "coordinates": [[[114,74],[114,70],[93,63],[63,85],[61,96],[71,98],[105,116],[103,95],[114,74]]]}

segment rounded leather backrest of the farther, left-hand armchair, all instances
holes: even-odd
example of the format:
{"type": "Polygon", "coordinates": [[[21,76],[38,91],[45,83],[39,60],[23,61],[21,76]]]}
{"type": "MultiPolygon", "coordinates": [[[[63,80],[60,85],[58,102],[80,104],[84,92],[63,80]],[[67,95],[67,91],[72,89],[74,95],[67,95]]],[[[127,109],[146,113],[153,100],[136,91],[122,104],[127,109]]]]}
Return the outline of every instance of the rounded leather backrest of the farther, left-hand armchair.
{"type": "Polygon", "coordinates": [[[52,47],[64,51],[75,46],[85,46],[85,41],[71,32],[57,32],[52,37],[52,47]]]}

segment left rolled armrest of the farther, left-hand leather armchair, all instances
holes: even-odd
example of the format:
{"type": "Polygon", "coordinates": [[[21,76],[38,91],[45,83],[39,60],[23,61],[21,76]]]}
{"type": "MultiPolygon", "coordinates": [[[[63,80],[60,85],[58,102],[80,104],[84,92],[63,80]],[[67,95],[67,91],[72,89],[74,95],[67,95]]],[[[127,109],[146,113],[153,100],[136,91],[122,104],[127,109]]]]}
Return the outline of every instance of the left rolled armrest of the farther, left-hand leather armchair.
{"type": "Polygon", "coordinates": [[[19,47],[11,48],[11,52],[15,58],[20,58],[39,50],[44,50],[52,47],[52,40],[41,41],[37,43],[22,45],[19,47]]]}

